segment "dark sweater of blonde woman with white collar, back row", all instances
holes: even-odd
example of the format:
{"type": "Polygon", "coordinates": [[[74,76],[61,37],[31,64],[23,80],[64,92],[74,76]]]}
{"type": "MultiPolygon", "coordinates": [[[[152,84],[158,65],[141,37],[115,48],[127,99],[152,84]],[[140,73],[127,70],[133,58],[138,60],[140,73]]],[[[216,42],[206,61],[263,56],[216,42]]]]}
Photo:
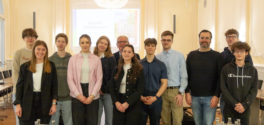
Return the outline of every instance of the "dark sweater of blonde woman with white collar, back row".
{"type": "Polygon", "coordinates": [[[110,93],[109,85],[111,80],[111,74],[113,72],[114,67],[117,66],[117,63],[114,59],[114,56],[101,58],[101,62],[102,62],[102,70],[103,70],[101,91],[103,93],[110,93]]]}

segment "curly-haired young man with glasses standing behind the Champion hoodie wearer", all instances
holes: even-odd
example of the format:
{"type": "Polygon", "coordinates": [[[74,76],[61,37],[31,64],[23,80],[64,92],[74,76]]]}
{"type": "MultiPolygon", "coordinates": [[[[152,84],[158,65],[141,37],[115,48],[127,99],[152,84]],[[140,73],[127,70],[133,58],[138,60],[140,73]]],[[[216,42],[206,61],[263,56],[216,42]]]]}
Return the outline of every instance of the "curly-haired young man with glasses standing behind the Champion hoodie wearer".
{"type": "MultiPolygon", "coordinates": [[[[235,58],[235,56],[233,55],[233,53],[231,52],[231,47],[234,43],[236,43],[239,40],[239,33],[237,30],[235,29],[229,29],[225,32],[225,36],[226,36],[226,43],[228,45],[228,47],[224,48],[224,51],[221,53],[221,55],[224,58],[225,64],[231,63],[232,59],[235,58]]],[[[250,64],[253,65],[253,61],[252,58],[250,56],[250,54],[248,54],[245,58],[246,60],[250,61],[250,64]]],[[[225,102],[222,98],[222,95],[220,96],[220,110],[222,113],[222,121],[224,122],[224,106],[225,106],[225,102]]]]}

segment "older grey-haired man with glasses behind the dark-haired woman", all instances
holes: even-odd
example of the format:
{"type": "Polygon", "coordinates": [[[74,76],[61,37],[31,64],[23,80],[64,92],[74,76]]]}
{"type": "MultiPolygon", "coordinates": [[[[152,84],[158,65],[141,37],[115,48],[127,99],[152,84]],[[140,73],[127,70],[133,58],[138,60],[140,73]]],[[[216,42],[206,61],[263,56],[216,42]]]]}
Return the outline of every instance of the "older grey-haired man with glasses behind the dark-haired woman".
{"type": "MultiPolygon", "coordinates": [[[[125,45],[129,44],[128,38],[126,36],[119,36],[117,37],[117,48],[119,49],[118,52],[114,53],[114,58],[117,61],[117,65],[118,65],[118,61],[120,59],[120,55],[122,54],[122,49],[124,48],[125,45]]],[[[138,60],[140,60],[140,57],[137,53],[135,53],[136,57],[138,60]]]]}

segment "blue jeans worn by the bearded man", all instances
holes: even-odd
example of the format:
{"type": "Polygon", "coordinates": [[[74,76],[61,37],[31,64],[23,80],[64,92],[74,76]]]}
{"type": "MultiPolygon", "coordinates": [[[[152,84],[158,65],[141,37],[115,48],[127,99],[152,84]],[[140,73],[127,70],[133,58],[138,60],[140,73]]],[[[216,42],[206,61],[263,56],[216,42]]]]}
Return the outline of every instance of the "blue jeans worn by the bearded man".
{"type": "Polygon", "coordinates": [[[194,121],[196,125],[213,125],[216,118],[216,109],[210,108],[211,99],[213,96],[208,97],[192,97],[191,108],[193,111],[194,121]]]}

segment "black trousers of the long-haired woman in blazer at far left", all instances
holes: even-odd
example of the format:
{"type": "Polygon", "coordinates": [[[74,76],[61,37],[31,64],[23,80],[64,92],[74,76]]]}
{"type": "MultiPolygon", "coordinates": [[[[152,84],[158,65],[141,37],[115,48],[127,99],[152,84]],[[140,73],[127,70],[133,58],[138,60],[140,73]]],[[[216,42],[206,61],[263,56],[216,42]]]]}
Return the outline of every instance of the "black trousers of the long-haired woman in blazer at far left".
{"type": "MultiPolygon", "coordinates": [[[[50,109],[46,109],[50,110],[50,109]]],[[[40,119],[41,124],[49,124],[51,120],[51,115],[43,116],[42,106],[41,106],[41,92],[33,92],[33,101],[30,119],[28,121],[19,120],[20,125],[34,125],[35,121],[40,119]]]]}

